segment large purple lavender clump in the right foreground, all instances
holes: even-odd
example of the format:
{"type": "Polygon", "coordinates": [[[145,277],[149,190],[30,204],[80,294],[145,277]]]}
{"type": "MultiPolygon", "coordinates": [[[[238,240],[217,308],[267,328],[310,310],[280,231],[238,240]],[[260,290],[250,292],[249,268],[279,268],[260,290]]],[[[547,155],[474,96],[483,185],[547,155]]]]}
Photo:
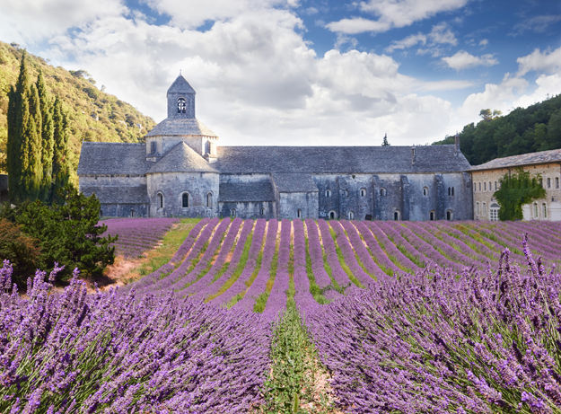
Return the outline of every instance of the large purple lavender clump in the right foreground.
{"type": "Polygon", "coordinates": [[[310,306],[306,322],[337,405],[560,412],[561,275],[523,246],[522,270],[505,251],[495,270],[384,277],[344,301],[310,306]]]}

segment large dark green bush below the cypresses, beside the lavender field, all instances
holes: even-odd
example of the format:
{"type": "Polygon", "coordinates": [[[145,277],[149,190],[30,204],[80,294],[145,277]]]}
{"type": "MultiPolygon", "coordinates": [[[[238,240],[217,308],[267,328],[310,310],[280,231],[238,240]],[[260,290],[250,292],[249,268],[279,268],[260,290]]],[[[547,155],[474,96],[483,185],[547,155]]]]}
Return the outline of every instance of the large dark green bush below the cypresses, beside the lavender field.
{"type": "Polygon", "coordinates": [[[55,262],[65,266],[59,280],[68,280],[75,268],[86,277],[101,277],[103,269],[115,260],[115,248],[110,243],[117,237],[101,237],[107,226],[98,225],[99,200],[67,187],[63,202],[61,206],[47,206],[40,201],[23,203],[5,207],[0,216],[39,240],[40,268],[52,269],[55,262]]]}

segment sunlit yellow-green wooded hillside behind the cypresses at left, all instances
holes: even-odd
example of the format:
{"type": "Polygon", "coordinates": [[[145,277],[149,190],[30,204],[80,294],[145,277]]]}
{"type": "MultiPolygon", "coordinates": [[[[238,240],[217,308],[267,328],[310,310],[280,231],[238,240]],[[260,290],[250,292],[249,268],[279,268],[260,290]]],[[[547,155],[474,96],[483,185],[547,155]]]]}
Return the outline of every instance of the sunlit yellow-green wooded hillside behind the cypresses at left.
{"type": "MultiPolygon", "coordinates": [[[[15,84],[22,48],[0,42],[0,172],[5,172],[8,91],[15,84]]],[[[27,54],[31,76],[43,73],[48,92],[58,96],[68,116],[68,147],[75,173],[82,140],[139,142],[155,125],[127,102],[102,92],[83,70],[54,67],[41,57],[27,54]]]]}

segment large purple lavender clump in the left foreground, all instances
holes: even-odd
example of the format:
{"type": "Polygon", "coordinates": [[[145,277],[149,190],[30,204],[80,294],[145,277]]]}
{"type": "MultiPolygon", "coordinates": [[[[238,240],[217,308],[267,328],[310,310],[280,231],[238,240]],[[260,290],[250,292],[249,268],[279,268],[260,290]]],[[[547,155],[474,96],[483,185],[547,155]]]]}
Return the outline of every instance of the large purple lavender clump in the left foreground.
{"type": "Polygon", "coordinates": [[[271,324],[261,315],[164,292],[87,295],[76,278],[57,294],[40,272],[23,298],[11,272],[4,262],[0,412],[245,413],[263,403],[271,324]]]}

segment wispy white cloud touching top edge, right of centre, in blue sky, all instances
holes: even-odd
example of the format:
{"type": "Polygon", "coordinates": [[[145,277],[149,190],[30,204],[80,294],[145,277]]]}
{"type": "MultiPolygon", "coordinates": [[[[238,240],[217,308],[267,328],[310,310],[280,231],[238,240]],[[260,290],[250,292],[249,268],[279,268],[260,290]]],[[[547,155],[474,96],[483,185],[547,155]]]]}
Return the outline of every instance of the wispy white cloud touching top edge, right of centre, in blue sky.
{"type": "Polygon", "coordinates": [[[459,9],[468,0],[367,0],[361,2],[359,8],[366,13],[373,13],[378,20],[355,17],[330,22],[330,31],[356,34],[364,31],[388,31],[394,27],[409,26],[437,13],[459,9]]]}

